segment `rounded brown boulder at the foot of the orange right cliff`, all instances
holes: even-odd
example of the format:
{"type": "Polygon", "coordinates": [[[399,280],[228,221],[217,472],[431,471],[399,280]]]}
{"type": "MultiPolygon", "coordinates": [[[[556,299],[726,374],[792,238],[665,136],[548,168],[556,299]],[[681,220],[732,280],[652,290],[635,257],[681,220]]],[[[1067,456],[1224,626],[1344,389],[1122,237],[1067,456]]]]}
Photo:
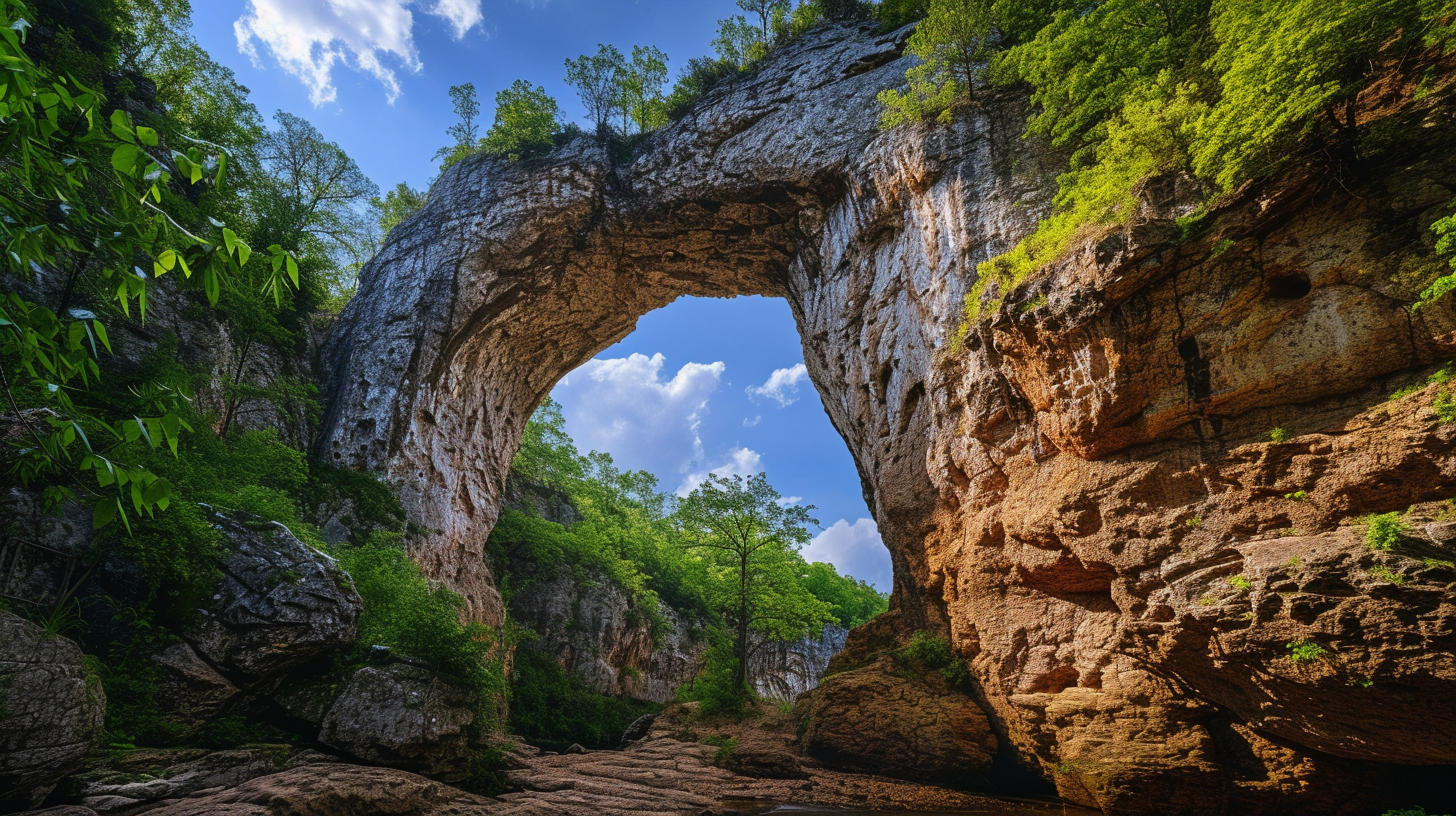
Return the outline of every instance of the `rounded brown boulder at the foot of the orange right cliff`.
{"type": "Polygon", "coordinates": [[[938,672],[891,657],[830,675],[801,698],[801,743],[827,765],[929,782],[983,778],[996,734],[976,701],[938,672]]]}

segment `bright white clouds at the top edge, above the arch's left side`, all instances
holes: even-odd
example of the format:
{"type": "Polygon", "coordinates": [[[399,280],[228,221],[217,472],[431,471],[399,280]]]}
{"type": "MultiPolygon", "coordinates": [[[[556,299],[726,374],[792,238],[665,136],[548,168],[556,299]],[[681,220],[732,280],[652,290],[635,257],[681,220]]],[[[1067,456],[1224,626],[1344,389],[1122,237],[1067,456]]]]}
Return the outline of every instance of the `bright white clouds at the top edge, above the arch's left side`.
{"type": "Polygon", "coordinates": [[[418,71],[415,17],[409,6],[443,17],[456,39],[480,25],[480,0],[248,0],[233,23],[237,48],[262,64],[259,45],[285,71],[309,87],[314,105],[333,102],[333,67],[352,66],[384,86],[390,102],[399,98],[395,66],[418,71]]]}

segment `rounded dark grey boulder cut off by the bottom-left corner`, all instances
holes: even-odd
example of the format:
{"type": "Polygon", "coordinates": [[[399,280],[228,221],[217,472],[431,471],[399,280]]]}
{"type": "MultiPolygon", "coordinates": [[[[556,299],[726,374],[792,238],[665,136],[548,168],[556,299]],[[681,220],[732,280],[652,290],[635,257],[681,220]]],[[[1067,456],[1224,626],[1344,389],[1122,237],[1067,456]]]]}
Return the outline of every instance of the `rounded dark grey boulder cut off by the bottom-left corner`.
{"type": "Polygon", "coordinates": [[[36,807],[100,734],[106,695],[82,650],[0,612],[0,812],[36,807]]]}

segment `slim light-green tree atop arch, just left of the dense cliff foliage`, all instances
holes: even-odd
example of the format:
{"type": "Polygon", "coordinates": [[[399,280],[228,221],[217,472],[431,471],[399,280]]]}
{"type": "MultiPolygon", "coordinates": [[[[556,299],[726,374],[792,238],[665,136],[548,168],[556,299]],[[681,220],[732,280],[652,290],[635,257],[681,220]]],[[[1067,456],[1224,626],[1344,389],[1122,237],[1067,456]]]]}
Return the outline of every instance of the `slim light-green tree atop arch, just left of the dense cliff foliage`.
{"type": "Polygon", "coordinates": [[[910,87],[879,93],[881,125],[932,117],[949,124],[954,106],[974,96],[986,73],[992,22],[990,0],[930,0],[927,16],[906,45],[920,64],[906,71],[910,87]]]}

